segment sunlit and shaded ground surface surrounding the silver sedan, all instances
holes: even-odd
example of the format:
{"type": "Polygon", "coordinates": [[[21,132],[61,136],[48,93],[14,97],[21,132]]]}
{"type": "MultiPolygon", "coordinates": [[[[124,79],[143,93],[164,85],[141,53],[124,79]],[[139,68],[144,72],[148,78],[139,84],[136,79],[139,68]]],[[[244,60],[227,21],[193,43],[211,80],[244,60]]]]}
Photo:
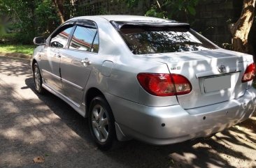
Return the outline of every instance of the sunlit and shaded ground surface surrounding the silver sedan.
{"type": "Polygon", "coordinates": [[[35,93],[29,61],[0,57],[0,167],[256,167],[256,117],[169,146],[132,140],[102,152],[86,119],[50,93],[35,93]],[[44,162],[33,159],[43,156],[44,162]]]}

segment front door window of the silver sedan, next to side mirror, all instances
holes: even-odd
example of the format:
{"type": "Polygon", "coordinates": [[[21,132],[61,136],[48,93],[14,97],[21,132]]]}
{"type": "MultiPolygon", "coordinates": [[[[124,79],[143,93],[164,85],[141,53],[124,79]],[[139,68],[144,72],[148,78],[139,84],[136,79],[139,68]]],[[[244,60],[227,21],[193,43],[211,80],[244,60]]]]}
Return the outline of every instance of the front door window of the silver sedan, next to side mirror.
{"type": "Polygon", "coordinates": [[[71,33],[73,26],[67,26],[60,28],[50,40],[50,46],[64,48],[68,42],[69,34],[71,33]],[[59,33],[60,31],[60,33],[59,33]]]}

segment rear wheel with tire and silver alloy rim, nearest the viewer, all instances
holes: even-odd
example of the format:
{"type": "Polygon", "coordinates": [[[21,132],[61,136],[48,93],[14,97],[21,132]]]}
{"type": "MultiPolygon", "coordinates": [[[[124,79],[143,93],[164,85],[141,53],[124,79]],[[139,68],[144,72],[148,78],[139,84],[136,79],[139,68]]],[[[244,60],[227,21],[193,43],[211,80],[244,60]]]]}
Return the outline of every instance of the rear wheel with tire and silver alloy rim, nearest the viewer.
{"type": "Polygon", "coordinates": [[[116,141],[115,119],[108,102],[101,96],[95,97],[90,103],[88,123],[94,142],[107,151],[116,141]]]}

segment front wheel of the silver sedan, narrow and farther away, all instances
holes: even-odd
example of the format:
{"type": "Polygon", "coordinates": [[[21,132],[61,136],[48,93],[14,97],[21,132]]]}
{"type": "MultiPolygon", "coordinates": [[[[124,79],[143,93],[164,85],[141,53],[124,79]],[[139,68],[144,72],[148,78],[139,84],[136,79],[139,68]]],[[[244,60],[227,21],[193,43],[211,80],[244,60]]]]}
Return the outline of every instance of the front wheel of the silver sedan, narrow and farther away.
{"type": "Polygon", "coordinates": [[[34,66],[33,66],[33,77],[34,77],[34,86],[35,86],[36,92],[40,94],[45,93],[45,89],[42,86],[43,80],[42,80],[41,72],[37,63],[34,63],[34,66]]]}

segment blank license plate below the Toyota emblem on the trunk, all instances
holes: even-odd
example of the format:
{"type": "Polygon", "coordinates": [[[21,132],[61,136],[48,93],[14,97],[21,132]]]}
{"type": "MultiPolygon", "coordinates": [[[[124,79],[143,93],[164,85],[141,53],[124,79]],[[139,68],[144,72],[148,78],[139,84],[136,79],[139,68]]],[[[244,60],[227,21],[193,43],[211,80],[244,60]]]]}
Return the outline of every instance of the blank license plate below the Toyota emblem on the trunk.
{"type": "Polygon", "coordinates": [[[220,91],[231,87],[231,75],[204,78],[204,91],[220,91]]]}

